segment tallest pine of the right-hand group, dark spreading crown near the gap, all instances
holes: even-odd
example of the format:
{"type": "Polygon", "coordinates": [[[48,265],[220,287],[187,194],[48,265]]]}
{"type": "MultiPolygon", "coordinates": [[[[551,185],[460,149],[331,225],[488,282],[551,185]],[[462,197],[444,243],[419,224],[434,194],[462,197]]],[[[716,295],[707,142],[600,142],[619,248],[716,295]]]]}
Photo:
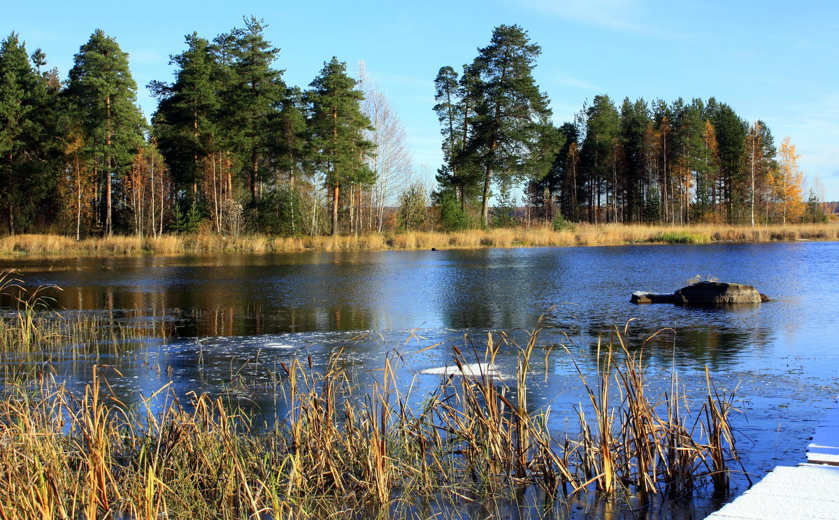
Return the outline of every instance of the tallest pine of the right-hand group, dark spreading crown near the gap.
{"type": "Polygon", "coordinates": [[[550,168],[552,157],[543,153],[545,134],[552,129],[548,96],[532,74],[540,52],[524,29],[500,25],[465,74],[475,81],[468,96],[474,98],[475,117],[464,153],[482,168],[484,226],[492,181],[540,178],[550,168]]]}

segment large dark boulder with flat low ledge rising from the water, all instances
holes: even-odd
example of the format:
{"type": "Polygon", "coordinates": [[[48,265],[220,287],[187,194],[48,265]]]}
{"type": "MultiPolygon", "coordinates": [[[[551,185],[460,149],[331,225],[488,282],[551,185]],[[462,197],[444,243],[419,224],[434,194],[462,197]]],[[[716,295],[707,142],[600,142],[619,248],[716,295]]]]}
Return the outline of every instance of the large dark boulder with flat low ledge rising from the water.
{"type": "Polygon", "coordinates": [[[629,301],[633,304],[733,305],[760,304],[770,299],[745,283],[706,281],[691,283],[674,294],[635,291],[629,301]]]}

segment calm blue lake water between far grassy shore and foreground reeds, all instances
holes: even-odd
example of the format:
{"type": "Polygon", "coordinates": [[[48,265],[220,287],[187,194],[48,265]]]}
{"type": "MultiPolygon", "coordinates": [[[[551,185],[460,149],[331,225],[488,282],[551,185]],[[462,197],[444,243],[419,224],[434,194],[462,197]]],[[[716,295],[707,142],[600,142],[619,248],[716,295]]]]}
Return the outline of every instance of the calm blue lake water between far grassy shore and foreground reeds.
{"type": "MultiPolygon", "coordinates": [[[[321,361],[336,346],[346,346],[362,377],[399,350],[401,373],[416,378],[421,396],[439,382],[423,371],[451,362],[464,334],[479,342],[505,330],[521,340],[545,315],[539,343],[568,346],[593,370],[597,336],[614,325],[628,323],[632,348],[666,329],[649,343],[650,386],[667,387],[673,366],[689,392],[703,387],[706,366],[720,389],[739,385],[737,447],[746,469],[763,476],[805,460],[807,440],[839,393],[837,258],[839,243],[791,242],[6,259],[0,270],[17,268],[31,287],[59,286],[44,294],[61,309],[157,331],[123,356],[122,377],[110,380],[128,401],[170,378],[180,390],[220,391],[237,377],[267,377],[294,356],[321,361]],[[776,301],[733,309],[628,303],[634,290],[671,292],[697,274],[751,283],[776,301]]],[[[514,372],[514,354],[502,349],[503,374],[514,372]]],[[[94,361],[57,370],[84,382],[94,361]]],[[[530,402],[550,403],[555,429],[571,429],[572,406],[584,399],[574,367],[557,348],[539,365],[530,402]]],[[[258,387],[248,399],[282,413],[258,387]]]]}

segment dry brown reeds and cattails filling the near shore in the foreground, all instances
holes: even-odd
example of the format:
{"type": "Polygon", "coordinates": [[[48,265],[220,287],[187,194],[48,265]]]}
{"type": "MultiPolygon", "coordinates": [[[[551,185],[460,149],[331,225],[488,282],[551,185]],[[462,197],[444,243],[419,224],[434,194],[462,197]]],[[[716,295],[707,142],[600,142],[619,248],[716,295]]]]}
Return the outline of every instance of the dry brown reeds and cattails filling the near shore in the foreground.
{"type": "Polygon", "coordinates": [[[670,393],[650,397],[644,350],[614,330],[597,372],[580,371],[580,434],[560,437],[550,407],[528,402],[532,361],[550,355],[538,345],[539,329],[522,346],[506,335],[452,346],[456,370],[425,396],[399,382],[396,353],[365,386],[340,349],[321,368],[294,359],[274,373],[289,412],[270,425],[169,387],[128,407],[102,372],[121,377],[117,367],[93,366],[83,393],[50,375],[8,377],[0,518],[460,517],[529,489],[551,503],[727,491],[734,401],[710,377],[696,416],[675,372],[670,393]],[[501,348],[518,352],[506,379],[492,370],[501,348]]]}

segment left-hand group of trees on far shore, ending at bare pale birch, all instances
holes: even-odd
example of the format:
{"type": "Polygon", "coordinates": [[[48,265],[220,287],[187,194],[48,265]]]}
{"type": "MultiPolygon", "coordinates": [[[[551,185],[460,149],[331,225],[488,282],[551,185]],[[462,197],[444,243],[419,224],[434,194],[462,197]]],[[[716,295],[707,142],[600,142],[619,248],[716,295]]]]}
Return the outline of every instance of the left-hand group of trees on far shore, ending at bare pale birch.
{"type": "Polygon", "coordinates": [[[149,84],[147,123],[128,55],[102,30],[66,81],[0,49],[0,207],[5,230],[76,237],[242,229],[382,230],[410,176],[404,127],[362,69],[333,57],[307,89],[287,86],[266,25],[190,34],[174,81],[149,84]],[[362,92],[363,89],[363,92],[362,92]],[[374,126],[375,124],[375,126],[374,126]]]}

